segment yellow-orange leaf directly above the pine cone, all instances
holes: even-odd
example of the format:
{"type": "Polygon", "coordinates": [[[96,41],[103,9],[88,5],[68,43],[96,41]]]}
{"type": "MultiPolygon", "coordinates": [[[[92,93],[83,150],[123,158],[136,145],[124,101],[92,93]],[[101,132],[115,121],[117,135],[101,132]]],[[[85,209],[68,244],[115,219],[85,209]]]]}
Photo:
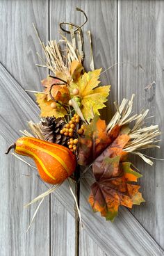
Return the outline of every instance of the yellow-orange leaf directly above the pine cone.
{"type": "Polygon", "coordinates": [[[47,95],[44,95],[42,93],[36,93],[36,102],[38,102],[38,105],[40,106],[40,116],[47,118],[54,116],[55,118],[62,118],[67,114],[65,109],[62,106],[59,106],[57,109],[51,108],[51,103],[54,102],[53,100],[47,100],[47,95]]]}

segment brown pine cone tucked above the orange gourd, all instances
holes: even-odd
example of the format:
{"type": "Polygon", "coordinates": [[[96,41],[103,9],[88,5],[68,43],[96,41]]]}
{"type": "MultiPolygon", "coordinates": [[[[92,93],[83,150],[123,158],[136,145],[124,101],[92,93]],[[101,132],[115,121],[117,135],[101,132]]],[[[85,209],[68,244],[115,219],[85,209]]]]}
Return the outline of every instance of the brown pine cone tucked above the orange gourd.
{"type": "Polygon", "coordinates": [[[67,145],[68,137],[60,134],[60,130],[63,129],[64,125],[65,122],[62,118],[44,118],[41,127],[44,140],[60,145],[67,145]]]}

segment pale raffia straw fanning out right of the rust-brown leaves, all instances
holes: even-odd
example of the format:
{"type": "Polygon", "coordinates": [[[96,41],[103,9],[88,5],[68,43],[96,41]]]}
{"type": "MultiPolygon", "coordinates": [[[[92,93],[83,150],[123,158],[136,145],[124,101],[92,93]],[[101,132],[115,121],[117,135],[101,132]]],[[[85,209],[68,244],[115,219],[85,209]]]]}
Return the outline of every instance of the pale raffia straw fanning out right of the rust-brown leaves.
{"type": "Polygon", "coordinates": [[[123,99],[120,106],[115,104],[117,112],[113,116],[112,120],[110,120],[108,123],[106,130],[110,132],[115,125],[129,125],[130,122],[136,120],[133,128],[129,129],[128,135],[130,140],[128,143],[126,143],[123,150],[131,154],[137,154],[146,163],[152,165],[153,162],[149,159],[149,157],[145,156],[145,154],[142,154],[142,152],[138,152],[138,150],[159,147],[155,143],[158,142],[156,138],[161,134],[161,131],[159,131],[158,125],[143,127],[148,110],[142,111],[140,114],[131,115],[133,108],[133,98],[134,94],[132,95],[131,100],[123,99]]]}

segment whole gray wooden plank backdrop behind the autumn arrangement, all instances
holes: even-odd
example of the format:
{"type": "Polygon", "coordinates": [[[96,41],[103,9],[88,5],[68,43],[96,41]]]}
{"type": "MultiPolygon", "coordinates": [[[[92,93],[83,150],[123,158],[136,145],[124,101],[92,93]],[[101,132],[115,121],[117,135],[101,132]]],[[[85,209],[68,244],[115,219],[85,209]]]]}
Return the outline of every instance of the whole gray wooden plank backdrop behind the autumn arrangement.
{"type": "MultiPolygon", "coordinates": [[[[74,256],[74,200],[65,184],[44,200],[31,230],[26,228],[37,205],[24,204],[47,190],[35,170],[3,153],[26,129],[26,121],[38,120],[39,110],[31,93],[40,90],[40,80],[47,70],[35,67],[36,51],[41,51],[32,22],[42,41],[58,39],[58,24],[71,21],[81,24],[85,10],[88,23],[84,31],[92,32],[95,67],[105,70],[102,83],[110,83],[110,103],[136,94],[134,110],[149,108],[164,128],[164,1],[107,0],[0,0],[0,255],[1,256],[74,256]],[[156,86],[151,83],[156,81],[156,86]]],[[[85,35],[85,48],[88,38],[85,35]]],[[[86,66],[88,67],[88,49],[86,66]]],[[[149,119],[147,122],[150,122],[149,119]]],[[[161,150],[150,150],[152,157],[164,158],[161,150]]],[[[80,208],[83,230],[80,231],[81,256],[164,255],[164,168],[163,161],[147,166],[138,158],[142,171],[140,191],[146,200],[132,211],[120,209],[114,223],[93,214],[88,205],[88,180],[81,181],[80,208]]]]}

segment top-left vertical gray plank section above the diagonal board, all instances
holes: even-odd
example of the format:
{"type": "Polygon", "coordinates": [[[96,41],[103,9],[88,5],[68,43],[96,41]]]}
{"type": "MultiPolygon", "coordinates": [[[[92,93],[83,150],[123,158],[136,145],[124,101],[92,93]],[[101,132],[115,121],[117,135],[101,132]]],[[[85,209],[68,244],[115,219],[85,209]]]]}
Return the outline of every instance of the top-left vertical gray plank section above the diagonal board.
{"type": "MultiPolygon", "coordinates": [[[[32,23],[42,31],[42,40],[47,40],[48,1],[1,0],[0,11],[1,63],[25,89],[40,90],[47,70],[35,66],[40,45],[32,23]]],[[[33,94],[31,97],[35,98],[33,94]]]]}

